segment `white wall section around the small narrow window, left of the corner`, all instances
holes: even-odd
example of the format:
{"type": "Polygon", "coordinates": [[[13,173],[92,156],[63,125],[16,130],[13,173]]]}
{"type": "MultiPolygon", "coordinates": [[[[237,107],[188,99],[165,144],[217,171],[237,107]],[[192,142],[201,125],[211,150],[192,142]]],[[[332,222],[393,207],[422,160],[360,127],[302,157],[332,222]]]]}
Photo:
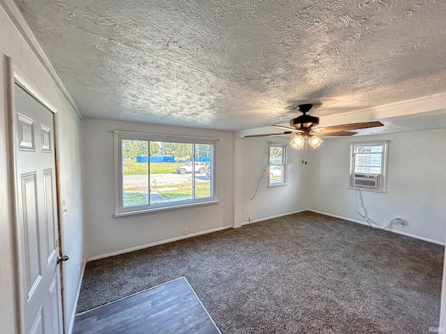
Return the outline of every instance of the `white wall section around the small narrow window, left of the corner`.
{"type": "Polygon", "coordinates": [[[302,164],[302,151],[293,150],[290,146],[286,147],[288,184],[268,188],[268,168],[265,173],[263,170],[268,164],[268,142],[270,141],[285,143],[281,137],[236,139],[238,145],[234,164],[236,226],[247,223],[249,216],[252,216],[253,221],[261,221],[273,216],[298,212],[307,207],[305,189],[307,188],[306,175],[309,168],[302,164]],[[256,193],[259,180],[259,189],[256,193]],[[255,197],[254,193],[256,193],[255,197]],[[254,199],[252,199],[253,197],[254,199]],[[242,213],[243,208],[245,208],[245,213],[242,213]]]}

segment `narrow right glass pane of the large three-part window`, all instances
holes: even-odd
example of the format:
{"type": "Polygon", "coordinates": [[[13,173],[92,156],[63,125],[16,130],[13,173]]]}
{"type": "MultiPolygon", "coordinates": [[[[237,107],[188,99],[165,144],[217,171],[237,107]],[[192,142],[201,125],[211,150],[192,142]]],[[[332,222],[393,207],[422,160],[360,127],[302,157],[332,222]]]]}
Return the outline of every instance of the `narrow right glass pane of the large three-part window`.
{"type": "Polygon", "coordinates": [[[210,180],[212,177],[212,148],[209,144],[195,144],[195,198],[212,197],[210,180]]]}

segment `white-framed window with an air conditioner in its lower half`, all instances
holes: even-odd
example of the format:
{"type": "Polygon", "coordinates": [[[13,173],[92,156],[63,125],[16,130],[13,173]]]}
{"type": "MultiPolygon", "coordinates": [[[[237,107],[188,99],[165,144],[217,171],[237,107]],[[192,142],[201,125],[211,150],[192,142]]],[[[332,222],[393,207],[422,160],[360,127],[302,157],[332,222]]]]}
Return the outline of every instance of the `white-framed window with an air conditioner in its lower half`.
{"type": "Polygon", "coordinates": [[[387,142],[351,144],[350,186],[385,191],[387,142]]]}

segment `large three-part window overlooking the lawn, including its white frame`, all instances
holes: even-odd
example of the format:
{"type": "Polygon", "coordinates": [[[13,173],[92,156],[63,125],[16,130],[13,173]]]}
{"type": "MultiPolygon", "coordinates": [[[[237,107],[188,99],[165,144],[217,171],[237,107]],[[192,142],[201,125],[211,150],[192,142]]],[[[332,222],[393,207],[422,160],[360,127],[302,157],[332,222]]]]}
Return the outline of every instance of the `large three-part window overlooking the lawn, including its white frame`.
{"type": "Polygon", "coordinates": [[[217,202],[215,139],[115,132],[115,216],[217,202]]]}

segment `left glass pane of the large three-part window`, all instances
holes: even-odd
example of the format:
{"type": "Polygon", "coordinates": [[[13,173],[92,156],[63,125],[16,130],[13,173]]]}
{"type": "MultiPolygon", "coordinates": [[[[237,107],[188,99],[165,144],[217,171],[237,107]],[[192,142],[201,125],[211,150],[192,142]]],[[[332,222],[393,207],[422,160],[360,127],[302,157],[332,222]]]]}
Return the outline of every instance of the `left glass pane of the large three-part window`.
{"type": "Polygon", "coordinates": [[[121,142],[123,207],[148,205],[148,142],[121,142]]]}

